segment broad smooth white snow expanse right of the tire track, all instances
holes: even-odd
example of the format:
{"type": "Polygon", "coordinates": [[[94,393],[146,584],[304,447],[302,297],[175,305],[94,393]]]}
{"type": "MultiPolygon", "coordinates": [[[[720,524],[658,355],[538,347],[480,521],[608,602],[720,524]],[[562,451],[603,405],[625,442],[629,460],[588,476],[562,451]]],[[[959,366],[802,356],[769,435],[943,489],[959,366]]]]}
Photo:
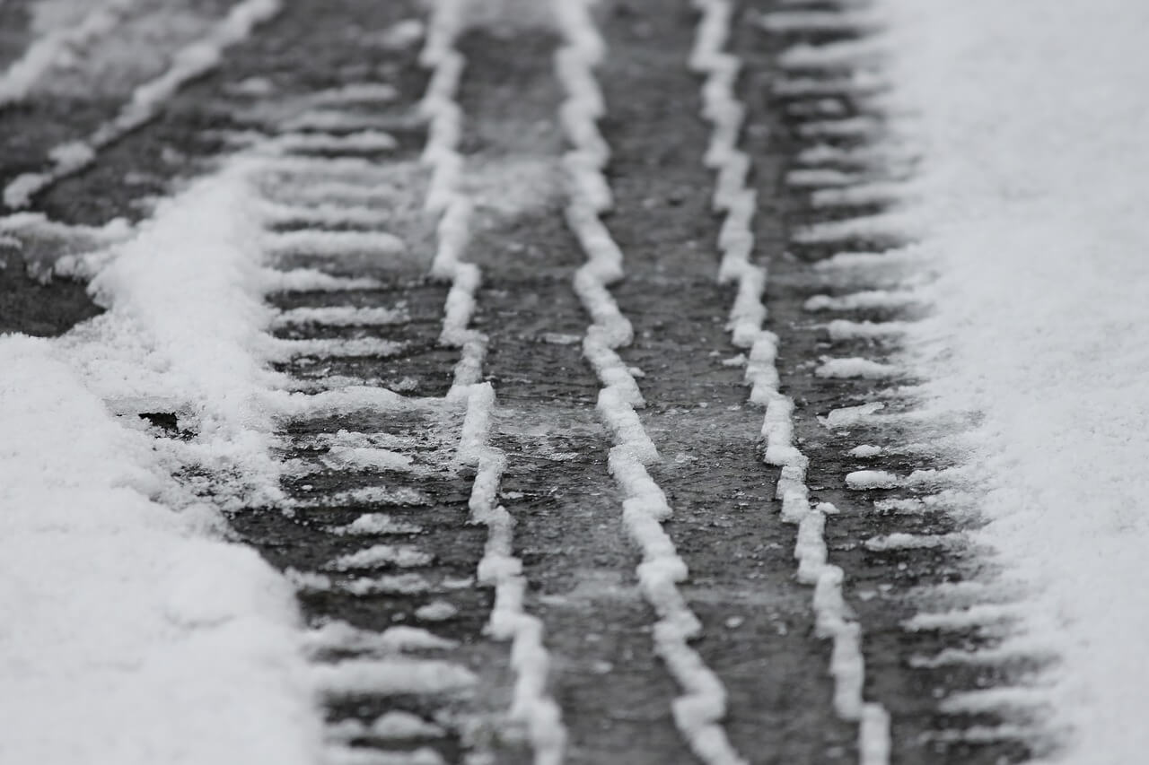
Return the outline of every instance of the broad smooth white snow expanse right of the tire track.
{"type": "MultiPolygon", "coordinates": [[[[984,412],[978,536],[1040,588],[1065,762],[1149,751],[1149,6],[881,0],[939,262],[911,333],[928,391],[984,412]]],[[[1036,602],[1036,601],[1035,601],[1036,602]]]]}

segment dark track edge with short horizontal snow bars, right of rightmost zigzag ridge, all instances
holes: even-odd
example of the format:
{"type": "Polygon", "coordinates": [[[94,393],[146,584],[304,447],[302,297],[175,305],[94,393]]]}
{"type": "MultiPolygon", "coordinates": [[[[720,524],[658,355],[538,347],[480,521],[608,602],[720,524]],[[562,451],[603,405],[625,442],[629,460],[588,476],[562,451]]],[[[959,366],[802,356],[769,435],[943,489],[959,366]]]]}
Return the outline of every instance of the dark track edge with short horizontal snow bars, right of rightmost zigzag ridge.
{"type": "Polygon", "coordinates": [[[928,263],[897,214],[913,157],[885,113],[874,21],[830,3],[768,11],[759,29],[738,47],[770,72],[751,103],[788,155],[779,185],[796,192],[796,257],[778,261],[768,294],[774,322],[795,329],[779,370],[800,402],[808,481],[840,511],[825,535],[867,627],[867,693],[892,714],[894,759],[1028,759],[1048,747],[1026,687],[1048,657],[1011,640],[1017,594],[962,534],[977,523],[977,477],[959,458],[972,420],[923,407],[899,357],[905,323],[927,308],[928,263]]]}

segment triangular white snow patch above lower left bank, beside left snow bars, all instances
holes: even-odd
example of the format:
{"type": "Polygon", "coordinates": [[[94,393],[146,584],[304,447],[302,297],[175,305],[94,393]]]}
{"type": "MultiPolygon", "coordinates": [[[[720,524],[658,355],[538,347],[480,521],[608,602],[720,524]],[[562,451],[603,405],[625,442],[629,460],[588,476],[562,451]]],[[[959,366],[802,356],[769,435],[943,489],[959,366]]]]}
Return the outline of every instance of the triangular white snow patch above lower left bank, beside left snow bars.
{"type": "Polygon", "coordinates": [[[122,411],[173,412],[196,434],[183,458],[230,471],[232,503],[278,496],[268,456],[279,384],[262,301],[262,229],[239,162],[162,203],[92,280],[107,314],[59,341],[122,411]]]}

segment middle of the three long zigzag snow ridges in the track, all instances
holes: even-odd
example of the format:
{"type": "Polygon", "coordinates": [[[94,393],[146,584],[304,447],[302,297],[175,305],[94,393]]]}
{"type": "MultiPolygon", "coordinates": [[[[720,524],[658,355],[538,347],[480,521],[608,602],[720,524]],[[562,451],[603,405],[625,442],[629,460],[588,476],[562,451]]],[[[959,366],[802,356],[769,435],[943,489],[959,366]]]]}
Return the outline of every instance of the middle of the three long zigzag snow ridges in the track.
{"type": "Polygon", "coordinates": [[[747,760],[731,745],[720,725],[726,714],[726,689],[689,646],[702,625],[678,589],[688,570],[662,527],[672,513],[666,496],[647,472],[660,457],[635,412],[635,407],[643,405],[642,395],[616,353],[631,342],[633,330],[608,289],[623,277],[623,254],[599,217],[611,204],[603,175],[610,152],[597,128],[606,106],[594,68],[606,54],[606,44],[591,16],[593,2],[553,3],[563,37],[555,68],[566,93],[560,119],[571,144],[563,157],[570,184],[566,223],[587,256],[574,276],[574,292],[592,318],[583,353],[602,384],[597,410],[615,441],[608,466],[626,496],[623,521],[642,551],[639,586],[658,616],[655,652],[683,690],[672,702],[674,725],[704,763],[742,765],[747,760]]]}

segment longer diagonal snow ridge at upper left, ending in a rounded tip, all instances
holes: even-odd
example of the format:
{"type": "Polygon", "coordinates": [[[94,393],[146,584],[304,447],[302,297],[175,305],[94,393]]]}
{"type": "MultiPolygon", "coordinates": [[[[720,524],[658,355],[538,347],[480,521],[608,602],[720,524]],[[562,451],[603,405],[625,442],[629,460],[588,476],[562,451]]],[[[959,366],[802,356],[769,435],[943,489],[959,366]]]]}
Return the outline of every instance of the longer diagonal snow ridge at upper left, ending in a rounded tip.
{"type": "Polygon", "coordinates": [[[115,118],[84,140],[52,149],[53,164],[48,170],[26,172],[11,180],[3,190],[3,203],[10,208],[28,207],[36,194],[91,165],[101,149],[155,118],[186,83],[217,67],[224,48],[250,36],[257,24],[279,13],[280,6],[282,0],[242,0],[232,7],[206,37],[178,51],[167,71],[138,85],[115,118]]]}

